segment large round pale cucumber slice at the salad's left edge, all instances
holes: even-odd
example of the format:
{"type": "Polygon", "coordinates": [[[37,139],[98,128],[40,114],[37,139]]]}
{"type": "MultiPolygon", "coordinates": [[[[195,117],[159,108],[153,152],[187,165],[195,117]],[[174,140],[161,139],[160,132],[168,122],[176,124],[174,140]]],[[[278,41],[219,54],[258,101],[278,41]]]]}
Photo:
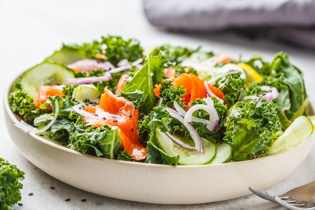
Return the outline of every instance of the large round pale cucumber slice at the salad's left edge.
{"type": "Polygon", "coordinates": [[[36,102],[40,86],[62,84],[67,82],[68,78],[74,78],[73,72],[63,64],[42,62],[22,75],[21,86],[36,102]]]}

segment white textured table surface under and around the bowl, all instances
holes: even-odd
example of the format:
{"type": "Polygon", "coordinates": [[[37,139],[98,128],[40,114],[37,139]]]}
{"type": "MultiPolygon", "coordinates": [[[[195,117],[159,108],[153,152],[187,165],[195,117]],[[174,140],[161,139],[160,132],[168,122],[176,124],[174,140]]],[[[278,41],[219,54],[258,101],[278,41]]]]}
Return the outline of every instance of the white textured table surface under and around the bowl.
{"type": "MultiPolygon", "coordinates": [[[[164,43],[204,45],[207,49],[234,57],[241,53],[245,58],[259,51],[266,59],[272,59],[276,52],[286,51],[292,62],[304,72],[308,95],[315,98],[315,50],[264,39],[247,40],[230,33],[194,35],[159,31],[146,21],[140,0],[0,1],[1,90],[22,71],[58,49],[62,43],[89,42],[102,35],[136,38],[142,46],[148,47],[164,43]]],[[[3,91],[0,98],[3,100],[3,91]]],[[[0,106],[3,110],[2,102],[0,106]]],[[[21,190],[23,205],[15,205],[13,209],[284,209],[255,195],[197,205],[161,205],[118,200],[78,190],[29,163],[12,143],[3,117],[1,119],[0,157],[26,172],[22,182],[24,188],[21,190]],[[65,201],[67,198],[70,201],[65,201]],[[86,201],[83,202],[83,199],[86,201]]],[[[283,181],[268,188],[268,191],[281,194],[314,180],[314,165],[313,146],[300,167],[283,181]]]]}

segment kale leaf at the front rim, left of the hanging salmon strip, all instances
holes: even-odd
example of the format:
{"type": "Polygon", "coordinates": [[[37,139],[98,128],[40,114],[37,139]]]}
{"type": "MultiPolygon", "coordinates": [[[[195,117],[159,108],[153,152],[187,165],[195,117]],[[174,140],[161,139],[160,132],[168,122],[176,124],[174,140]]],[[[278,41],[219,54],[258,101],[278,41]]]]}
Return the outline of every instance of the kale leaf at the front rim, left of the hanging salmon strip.
{"type": "Polygon", "coordinates": [[[119,128],[93,127],[85,125],[82,117],[78,117],[70,127],[68,148],[84,154],[114,159],[122,150],[119,128]]]}

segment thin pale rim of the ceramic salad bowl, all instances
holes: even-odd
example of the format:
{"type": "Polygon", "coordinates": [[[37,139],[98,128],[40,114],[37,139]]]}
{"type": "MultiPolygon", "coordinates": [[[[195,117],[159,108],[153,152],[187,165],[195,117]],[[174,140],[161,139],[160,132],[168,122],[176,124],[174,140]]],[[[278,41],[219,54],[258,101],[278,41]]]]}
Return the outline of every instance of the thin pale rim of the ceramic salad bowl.
{"type": "MultiPolygon", "coordinates": [[[[23,73],[22,73],[23,74],[23,73]]],[[[13,91],[13,85],[14,83],[17,81],[17,79],[22,75],[20,74],[17,78],[15,78],[13,81],[9,82],[8,85],[6,85],[6,88],[4,90],[4,109],[7,112],[7,114],[9,115],[10,119],[14,122],[14,123],[18,123],[19,120],[16,117],[16,114],[12,112],[11,108],[10,108],[10,104],[9,104],[9,100],[8,97],[10,95],[10,93],[12,93],[13,91]]],[[[309,96],[307,96],[307,100],[308,100],[308,104],[307,104],[307,111],[315,114],[315,102],[313,101],[312,98],[310,98],[309,96]]],[[[22,129],[23,130],[23,129],[22,129]]],[[[206,165],[166,165],[166,164],[149,164],[149,163],[143,163],[143,162],[134,162],[134,161],[122,161],[122,160],[116,160],[116,159],[108,159],[108,158],[104,158],[104,157],[97,157],[97,156],[93,156],[90,154],[83,154],[81,152],[78,151],[74,151],[71,150],[69,148],[60,146],[58,144],[52,143],[50,141],[48,141],[45,138],[42,138],[38,135],[36,135],[35,133],[32,133],[30,131],[27,130],[23,130],[23,132],[27,133],[28,135],[30,135],[31,137],[35,138],[37,141],[48,145],[49,147],[53,147],[55,149],[61,150],[63,152],[66,153],[71,153],[73,155],[77,155],[77,156],[86,156],[95,160],[101,160],[103,162],[117,162],[119,164],[124,164],[124,165],[135,165],[135,166],[143,166],[143,167],[154,167],[154,168],[166,168],[166,169],[170,169],[170,168],[211,168],[211,167],[228,167],[230,165],[235,166],[235,165],[243,165],[243,164],[247,164],[247,163],[254,163],[257,161],[263,161],[263,160],[268,160],[270,158],[274,158],[276,156],[281,156],[283,153],[286,153],[290,150],[293,150],[297,147],[299,147],[300,145],[302,145],[303,143],[307,142],[307,141],[311,141],[311,136],[309,136],[308,138],[304,139],[304,141],[300,142],[299,144],[284,150],[284,151],[280,151],[276,154],[272,154],[272,155],[268,155],[268,156],[264,156],[261,158],[256,158],[256,159],[251,159],[251,160],[245,160],[245,161],[238,161],[238,162],[228,162],[228,163],[219,163],[219,164],[206,164],[206,165]]],[[[311,134],[313,135],[313,134],[311,134]]]]}

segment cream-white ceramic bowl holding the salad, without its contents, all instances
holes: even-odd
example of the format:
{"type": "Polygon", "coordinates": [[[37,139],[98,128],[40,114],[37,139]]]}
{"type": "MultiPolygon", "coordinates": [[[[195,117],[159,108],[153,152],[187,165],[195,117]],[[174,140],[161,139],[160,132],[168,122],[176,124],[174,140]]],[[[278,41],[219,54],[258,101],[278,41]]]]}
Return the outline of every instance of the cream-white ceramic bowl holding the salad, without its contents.
{"type": "MultiPolygon", "coordinates": [[[[296,147],[271,156],[215,165],[170,166],[110,160],[56,145],[14,124],[8,95],[4,96],[7,128],[22,155],[56,179],[92,193],[140,202],[193,204],[250,194],[248,187],[267,188],[288,176],[308,155],[313,136],[296,147]],[[283,164],[289,162],[290,164],[283,164]]],[[[314,114],[308,104],[308,113],[314,114]]]]}

